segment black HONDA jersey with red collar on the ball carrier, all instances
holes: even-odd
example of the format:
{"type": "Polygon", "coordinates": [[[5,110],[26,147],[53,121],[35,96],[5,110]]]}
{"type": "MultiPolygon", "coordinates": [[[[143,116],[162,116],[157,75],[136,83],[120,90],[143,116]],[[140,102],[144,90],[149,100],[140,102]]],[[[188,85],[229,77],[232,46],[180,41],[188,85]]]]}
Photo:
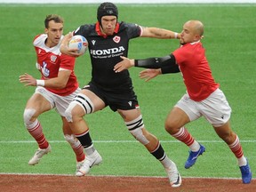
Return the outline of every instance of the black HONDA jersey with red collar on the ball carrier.
{"type": "Polygon", "coordinates": [[[89,44],[92,62],[92,83],[109,91],[124,92],[132,89],[128,70],[115,73],[113,70],[120,56],[127,57],[129,40],[140,36],[141,27],[136,24],[119,22],[113,36],[104,36],[100,24],[83,25],[74,35],[84,36],[89,44]]]}

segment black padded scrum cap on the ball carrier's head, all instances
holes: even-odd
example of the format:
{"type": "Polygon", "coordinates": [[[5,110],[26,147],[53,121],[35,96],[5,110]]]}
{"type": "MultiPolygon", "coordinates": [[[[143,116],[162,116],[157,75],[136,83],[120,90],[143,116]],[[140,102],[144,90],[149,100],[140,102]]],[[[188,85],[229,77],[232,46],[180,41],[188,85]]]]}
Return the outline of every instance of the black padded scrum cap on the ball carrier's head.
{"type": "Polygon", "coordinates": [[[105,2],[100,4],[97,11],[97,20],[101,22],[101,18],[106,15],[114,15],[116,19],[118,18],[118,9],[116,4],[110,2],[105,2]]]}

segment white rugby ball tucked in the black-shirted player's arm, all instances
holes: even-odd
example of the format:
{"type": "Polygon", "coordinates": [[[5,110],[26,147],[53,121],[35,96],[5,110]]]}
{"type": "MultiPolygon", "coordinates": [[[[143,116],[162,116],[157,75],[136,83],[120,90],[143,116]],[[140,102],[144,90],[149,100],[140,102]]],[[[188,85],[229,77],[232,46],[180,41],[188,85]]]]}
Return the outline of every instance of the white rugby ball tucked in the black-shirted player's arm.
{"type": "Polygon", "coordinates": [[[76,35],[76,36],[72,36],[72,38],[68,42],[68,47],[77,48],[78,49],[77,53],[84,54],[84,52],[86,52],[88,48],[88,42],[84,36],[76,35]]]}

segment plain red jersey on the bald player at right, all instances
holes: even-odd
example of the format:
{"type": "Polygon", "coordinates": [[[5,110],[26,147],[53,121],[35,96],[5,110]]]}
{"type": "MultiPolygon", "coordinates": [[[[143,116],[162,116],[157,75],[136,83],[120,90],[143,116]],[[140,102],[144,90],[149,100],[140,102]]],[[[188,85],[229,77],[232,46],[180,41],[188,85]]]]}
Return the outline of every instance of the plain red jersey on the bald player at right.
{"type": "Polygon", "coordinates": [[[212,77],[201,42],[184,44],[172,54],[179,65],[188,95],[192,100],[204,100],[219,88],[220,84],[215,83],[212,77]]]}

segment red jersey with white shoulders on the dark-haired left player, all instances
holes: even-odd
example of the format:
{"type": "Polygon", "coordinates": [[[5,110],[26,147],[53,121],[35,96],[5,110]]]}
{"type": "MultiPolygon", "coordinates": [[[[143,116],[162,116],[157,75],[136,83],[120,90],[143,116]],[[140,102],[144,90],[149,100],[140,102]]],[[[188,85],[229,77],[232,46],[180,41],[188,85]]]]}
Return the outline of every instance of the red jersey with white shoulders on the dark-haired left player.
{"type": "Polygon", "coordinates": [[[57,77],[61,69],[68,69],[72,72],[64,89],[51,89],[47,87],[45,89],[60,96],[69,95],[75,92],[79,86],[74,73],[76,58],[62,54],[60,52],[60,43],[52,48],[47,47],[45,45],[46,38],[46,34],[41,34],[36,36],[33,41],[36,49],[37,65],[40,66],[41,79],[57,77]]]}

